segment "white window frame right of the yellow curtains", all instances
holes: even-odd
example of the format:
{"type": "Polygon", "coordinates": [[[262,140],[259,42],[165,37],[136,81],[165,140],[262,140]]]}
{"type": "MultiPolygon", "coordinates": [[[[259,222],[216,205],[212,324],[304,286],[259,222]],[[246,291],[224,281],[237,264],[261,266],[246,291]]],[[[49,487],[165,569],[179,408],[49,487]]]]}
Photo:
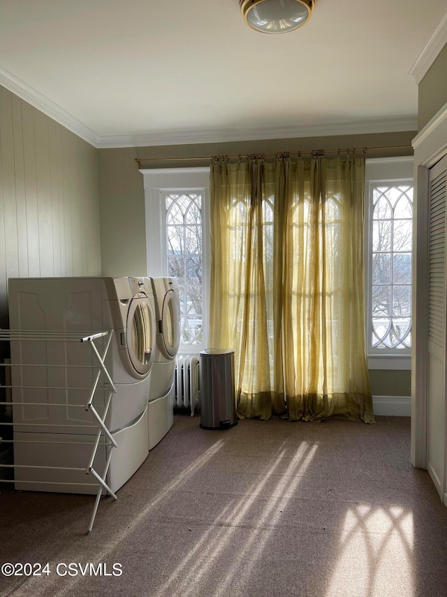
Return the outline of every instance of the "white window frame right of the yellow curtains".
{"type": "MultiPolygon", "coordinates": [[[[369,369],[411,370],[411,349],[371,348],[372,288],[372,188],[378,184],[413,185],[413,157],[379,157],[366,160],[365,167],[365,336],[369,369]]],[[[414,218],[414,213],[413,213],[414,218]]],[[[413,222],[414,230],[414,222],[413,222]]],[[[414,241],[413,241],[414,244],[414,241]]],[[[413,253],[413,259],[414,259],[413,253]]],[[[412,280],[412,283],[414,281],[412,280]]],[[[412,317],[414,314],[412,314],[412,317]]],[[[412,337],[413,341],[413,337],[412,337]]]]}

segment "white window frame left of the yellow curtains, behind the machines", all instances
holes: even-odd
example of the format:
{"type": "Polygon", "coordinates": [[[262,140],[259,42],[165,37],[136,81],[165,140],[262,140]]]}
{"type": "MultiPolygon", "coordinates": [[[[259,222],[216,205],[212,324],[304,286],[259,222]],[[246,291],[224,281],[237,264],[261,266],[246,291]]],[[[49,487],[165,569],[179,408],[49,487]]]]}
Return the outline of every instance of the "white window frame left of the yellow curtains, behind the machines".
{"type": "Polygon", "coordinates": [[[164,192],[200,192],[202,202],[203,343],[180,344],[179,354],[206,349],[210,305],[210,167],[141,169],[145,186],[146,261],[149,277],[168,276],[164,192]]]}

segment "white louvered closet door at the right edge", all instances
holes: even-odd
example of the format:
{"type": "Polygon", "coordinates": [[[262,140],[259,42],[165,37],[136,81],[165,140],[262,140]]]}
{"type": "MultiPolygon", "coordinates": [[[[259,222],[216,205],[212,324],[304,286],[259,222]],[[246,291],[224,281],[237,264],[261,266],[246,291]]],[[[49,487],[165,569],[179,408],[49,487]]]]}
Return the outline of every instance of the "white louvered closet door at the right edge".
{"type": "Polygon", "coordinates": [[[427,469],[446,491],[446,174],[447,156],[430,169],[427,358],[427,469]]]}

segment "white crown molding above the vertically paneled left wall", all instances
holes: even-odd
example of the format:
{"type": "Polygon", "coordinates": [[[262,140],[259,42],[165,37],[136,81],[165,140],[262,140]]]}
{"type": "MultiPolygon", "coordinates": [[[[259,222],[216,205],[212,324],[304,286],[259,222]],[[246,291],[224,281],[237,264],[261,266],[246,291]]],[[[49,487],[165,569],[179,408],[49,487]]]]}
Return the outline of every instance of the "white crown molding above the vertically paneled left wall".
{"type": "Polygon", "coordinates": [[[87,143],[97,147],[98,135],[94,131],[66,112],[61,106],[54,104],[54,101],[51,101],[45,95],[35,90],[34,87],[24,83],[24,81],[17,78],[13,73],[3,69],[3,66],[0,66],[0,85],[3,85],[7,90],[27,101],[28,104],[31,104],[31,106],[34,106],[34,108],[52,118],[52,120],[56,120],[56,122],[59,122],[59,125],[80,136],[87,143]]]}

